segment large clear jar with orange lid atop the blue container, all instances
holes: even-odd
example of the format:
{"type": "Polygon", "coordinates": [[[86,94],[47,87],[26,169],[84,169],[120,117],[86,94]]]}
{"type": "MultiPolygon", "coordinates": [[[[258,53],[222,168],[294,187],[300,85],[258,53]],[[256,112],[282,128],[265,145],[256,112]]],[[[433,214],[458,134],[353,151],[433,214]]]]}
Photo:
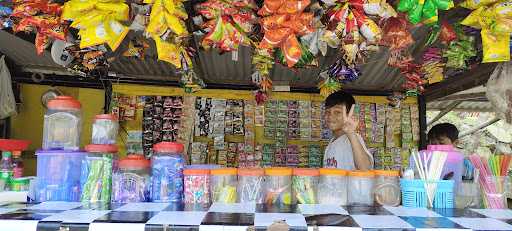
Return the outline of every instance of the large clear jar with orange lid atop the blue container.
{"type": "Polygon", "coordinates": [[[73,150],[80,148],[81,105],[71,96],[57,96],[48,102],[44,115],[43,149],[73,150]]]}

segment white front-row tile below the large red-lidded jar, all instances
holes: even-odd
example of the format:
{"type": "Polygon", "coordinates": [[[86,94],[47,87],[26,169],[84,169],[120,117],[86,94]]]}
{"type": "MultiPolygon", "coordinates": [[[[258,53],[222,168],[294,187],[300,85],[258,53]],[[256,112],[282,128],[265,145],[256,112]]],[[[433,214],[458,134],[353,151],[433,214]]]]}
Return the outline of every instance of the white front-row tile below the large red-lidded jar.
{"type": "Polygon", "coordinates": [[[155,225],[200,225],[206,212],[163,211],[153,216],[147,223],[155,225]]]}

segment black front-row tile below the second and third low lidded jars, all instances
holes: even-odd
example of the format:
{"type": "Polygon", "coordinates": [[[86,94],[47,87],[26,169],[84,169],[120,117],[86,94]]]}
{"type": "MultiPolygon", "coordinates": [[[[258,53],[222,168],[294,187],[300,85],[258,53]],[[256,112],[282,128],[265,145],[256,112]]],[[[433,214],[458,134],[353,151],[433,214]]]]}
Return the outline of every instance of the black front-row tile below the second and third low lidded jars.
{"type": "Polygon", "coordinates": [[[254,213],[207,213],[201,225],[254,225],[254,213]]]}

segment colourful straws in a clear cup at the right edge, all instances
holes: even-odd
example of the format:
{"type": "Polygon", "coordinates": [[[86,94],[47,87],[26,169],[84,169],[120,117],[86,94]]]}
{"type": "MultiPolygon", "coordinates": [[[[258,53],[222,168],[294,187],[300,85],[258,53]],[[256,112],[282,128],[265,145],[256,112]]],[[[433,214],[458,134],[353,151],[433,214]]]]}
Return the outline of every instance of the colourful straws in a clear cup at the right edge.
{"type": "Polygon", "coordinates": [[[489,158],[477,154],[469,156],[471,163],[479,171],[479,182],[484,193],[486,208],[504,209],[507,207],[504,197],[506,177],[512,155],[492,155],[489,158]]]}

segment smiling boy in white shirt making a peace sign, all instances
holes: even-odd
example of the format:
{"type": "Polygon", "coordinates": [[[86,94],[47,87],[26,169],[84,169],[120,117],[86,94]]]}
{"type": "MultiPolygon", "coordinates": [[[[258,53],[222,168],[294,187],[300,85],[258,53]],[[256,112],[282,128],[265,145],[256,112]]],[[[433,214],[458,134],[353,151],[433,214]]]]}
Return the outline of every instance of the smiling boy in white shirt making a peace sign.
{"type": "Polygon", "coordinates": [[[373,157],[361,136],[356,133],[359,123],[353,117],[355,103],[354,97],[343,91],[332,93],[325,99],[325,122],[333,133],[333,139],[325,149],[325,168],[373,168],[373,157]]]}

